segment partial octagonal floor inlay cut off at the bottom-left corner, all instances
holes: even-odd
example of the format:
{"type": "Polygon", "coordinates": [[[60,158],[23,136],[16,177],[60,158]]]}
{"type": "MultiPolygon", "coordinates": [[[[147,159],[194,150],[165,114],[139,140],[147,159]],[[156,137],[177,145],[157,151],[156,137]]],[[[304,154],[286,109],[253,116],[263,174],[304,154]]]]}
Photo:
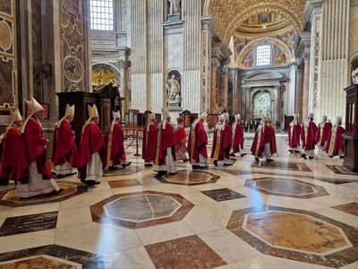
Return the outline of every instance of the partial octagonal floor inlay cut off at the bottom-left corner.
{"type": "Polygon", "coordinates": [[[1,269],[105,269],[103,257],[58,245],[0,254],[1,269]]]}

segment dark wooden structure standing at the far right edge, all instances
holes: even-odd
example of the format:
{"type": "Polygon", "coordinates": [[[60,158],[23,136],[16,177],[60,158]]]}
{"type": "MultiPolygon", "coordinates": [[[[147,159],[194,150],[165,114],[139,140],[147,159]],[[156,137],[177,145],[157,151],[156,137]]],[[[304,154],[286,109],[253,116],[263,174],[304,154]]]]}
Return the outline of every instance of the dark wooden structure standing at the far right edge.
{"type": "Polygon", "coordinates": [[[345,168],[358,172],[358,85],[345,88],[345,168]]]}

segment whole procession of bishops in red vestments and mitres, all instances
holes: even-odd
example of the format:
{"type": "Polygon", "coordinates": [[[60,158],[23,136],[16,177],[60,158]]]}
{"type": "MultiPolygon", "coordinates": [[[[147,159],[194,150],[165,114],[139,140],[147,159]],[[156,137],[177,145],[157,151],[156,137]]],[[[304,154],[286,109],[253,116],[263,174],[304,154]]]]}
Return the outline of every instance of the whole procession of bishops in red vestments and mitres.
{"type": "MultiPolygon", "coordinates": [[[[103,170],[125,169],[131,163],[126,161],[124,130],[119,112],[113,113],[113,123],[107,135],[98,127],[99,117],[96,105],[89,106],[89,118],[82,127],[81,143],[77,147],[72,131],[74,106],[66,106],[64,117],[55,126],[52,161],[55,173],[47,160],[49,140],[43,134],[40,118],[43,108],[37,100],[26,101],[29,116],[22,122],[18,109],[12,111],[12,122],[7,127],[1,143],[0,183],[9,180],[16,183],[16,195],[30,198],[42,195],[57,195],[62,190],[55,178],[79,174],[81,182],[88,186],[100,183],[103,170]]],[[[153,114],[147,115],[143,129],[142,158],[146,167],[152,167],[158,174],[177,173],[175,161],[190,161],[192,169],[208,169],[208,114],[202,114],[191,126],[187,138],[183,118],[178,117],[177,125],[171,124],[166,108],[162,109],[162,121],[156,122],[153,114]]],[[[316,145],[328,152],[330,157],[343,156],[345,129],[342,118],[332,126],[323,117],[319,126],[313,115],[303,124],[299,115],[294,115],[288,127],[288,151],[300,153],[305,159],[313,159],[316,145]]],[[[214,129],[211,159],[215,166],[231,165],[231,156],[243,156],[243,127],[240,115],[230,125],[228,113],[218,117],[214,129]],[[238,155],[240,154],[240,155],[238,155]]],[[[276,132],[268,116],[263,116],[251,145],[255,161],[273,161],[277,153],[276,132]]]]}

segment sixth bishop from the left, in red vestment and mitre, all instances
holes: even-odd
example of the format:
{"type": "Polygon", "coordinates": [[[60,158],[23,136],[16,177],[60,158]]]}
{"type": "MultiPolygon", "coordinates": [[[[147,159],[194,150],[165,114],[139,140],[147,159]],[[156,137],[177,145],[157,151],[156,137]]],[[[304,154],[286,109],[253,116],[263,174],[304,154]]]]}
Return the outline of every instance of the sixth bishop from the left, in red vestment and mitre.
{"type": "Polygon", "coordinates": [[[144,159],[146,167],[153,166],[156,158],[156,143],[157,143],[157,126],[156,116],[149,113],[147,115],[147,122],[143,129],[143,144],[141,157],[144,159]]]}

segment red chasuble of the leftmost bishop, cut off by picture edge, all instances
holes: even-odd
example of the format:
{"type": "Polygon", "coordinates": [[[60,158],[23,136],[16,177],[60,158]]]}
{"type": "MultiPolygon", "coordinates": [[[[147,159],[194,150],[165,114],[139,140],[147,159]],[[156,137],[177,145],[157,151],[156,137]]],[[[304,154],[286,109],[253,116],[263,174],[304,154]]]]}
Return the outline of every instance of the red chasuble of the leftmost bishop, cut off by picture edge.
{"type": "Polygon", "coordinates": [[[16,179],[17,158],[18,153],[21,152],[21,148],[19,148],[20,139],[21,131],[15,126],[11,126],[4,135],[0,170],[0,181],[2,183],[7,183],[9,179],[16,179]]]}

